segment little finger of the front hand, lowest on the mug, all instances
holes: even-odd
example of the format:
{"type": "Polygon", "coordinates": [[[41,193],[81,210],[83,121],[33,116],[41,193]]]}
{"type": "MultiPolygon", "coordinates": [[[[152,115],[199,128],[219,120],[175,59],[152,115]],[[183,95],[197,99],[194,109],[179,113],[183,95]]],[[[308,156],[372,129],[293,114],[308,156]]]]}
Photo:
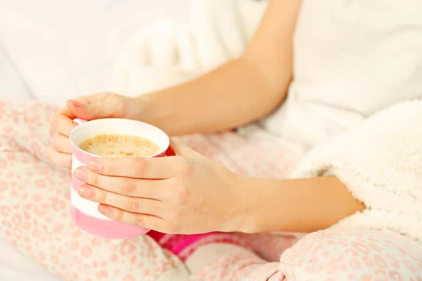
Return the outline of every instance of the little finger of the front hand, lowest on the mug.
{"type": "Polygon", "coordinates": [[[100,204],[98,211],[115,221],[131,224],[132,226],[141,226],[153,230],[165,229],[165,221],[158,216],[151,216],[149,214],[135,214],[129,211],[124,211],[115,207],[100,204]]]}

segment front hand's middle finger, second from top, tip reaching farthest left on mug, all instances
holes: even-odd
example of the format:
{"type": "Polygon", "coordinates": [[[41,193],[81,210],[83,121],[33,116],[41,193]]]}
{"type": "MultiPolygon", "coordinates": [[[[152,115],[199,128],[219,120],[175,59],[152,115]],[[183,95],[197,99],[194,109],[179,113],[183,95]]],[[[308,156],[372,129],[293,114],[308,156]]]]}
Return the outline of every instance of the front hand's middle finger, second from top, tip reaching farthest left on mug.
{"type": "Polygon", "coordinates": [[[121,176],[104,176],[89,170],[86,166],[75,169],[74,176],[79,181],[120,195],[154,200],[162,199],[162,185],[164,184],[162,180],[151,181],[121,176]]]}

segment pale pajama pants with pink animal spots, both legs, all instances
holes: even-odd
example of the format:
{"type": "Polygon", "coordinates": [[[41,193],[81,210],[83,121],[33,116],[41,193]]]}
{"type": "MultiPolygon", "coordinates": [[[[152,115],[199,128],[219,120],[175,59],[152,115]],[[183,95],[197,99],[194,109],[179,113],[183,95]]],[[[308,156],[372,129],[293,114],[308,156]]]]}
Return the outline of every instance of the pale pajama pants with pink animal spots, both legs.
{"type": "MultiPolygon", "coordinates": [[[[0,239],[64,280],[163,280],[169,270],[184,268],[177,256],[147,235],[106,240],[73,226],[70,171],[46,159],[48,121],[56,110],[26,100],[0,100],[0,239]]],[[[178,141],[240,174],[287,176],[300,155],[287,143],[262,136],[221,133],[178,141]]],[[[421,244],[396,233],[324,230],[299,242],[293,235],[242,237],[256,254],[217,256],[188,278],[422,281],[421,244]]],[[[206,259],[207,252],[200,255],[206,259]]]]}

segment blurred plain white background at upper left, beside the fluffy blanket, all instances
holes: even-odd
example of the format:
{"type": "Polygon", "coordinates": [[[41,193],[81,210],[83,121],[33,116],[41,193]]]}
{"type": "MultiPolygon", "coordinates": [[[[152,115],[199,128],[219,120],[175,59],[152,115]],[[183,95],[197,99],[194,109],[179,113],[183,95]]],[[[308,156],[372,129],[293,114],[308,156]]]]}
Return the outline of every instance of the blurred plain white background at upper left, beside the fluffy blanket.
{"type": "Polygon", "coordinates": [[[122,47],[188,0],[0,0],[0,96],[63,98],[107,91],[122,47]]]}

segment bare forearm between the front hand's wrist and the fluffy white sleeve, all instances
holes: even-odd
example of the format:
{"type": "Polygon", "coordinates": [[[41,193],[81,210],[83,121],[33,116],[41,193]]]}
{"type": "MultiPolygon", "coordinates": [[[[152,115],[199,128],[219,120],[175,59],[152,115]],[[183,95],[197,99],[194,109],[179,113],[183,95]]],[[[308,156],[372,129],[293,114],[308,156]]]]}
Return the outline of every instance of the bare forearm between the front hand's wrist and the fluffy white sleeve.
{"type": "Polygon", "coordinates": [[[288,180],[246,178],[242,199],[247,232],[322,230],[357,211],[364,211],[338,178],[288,180]]]}

